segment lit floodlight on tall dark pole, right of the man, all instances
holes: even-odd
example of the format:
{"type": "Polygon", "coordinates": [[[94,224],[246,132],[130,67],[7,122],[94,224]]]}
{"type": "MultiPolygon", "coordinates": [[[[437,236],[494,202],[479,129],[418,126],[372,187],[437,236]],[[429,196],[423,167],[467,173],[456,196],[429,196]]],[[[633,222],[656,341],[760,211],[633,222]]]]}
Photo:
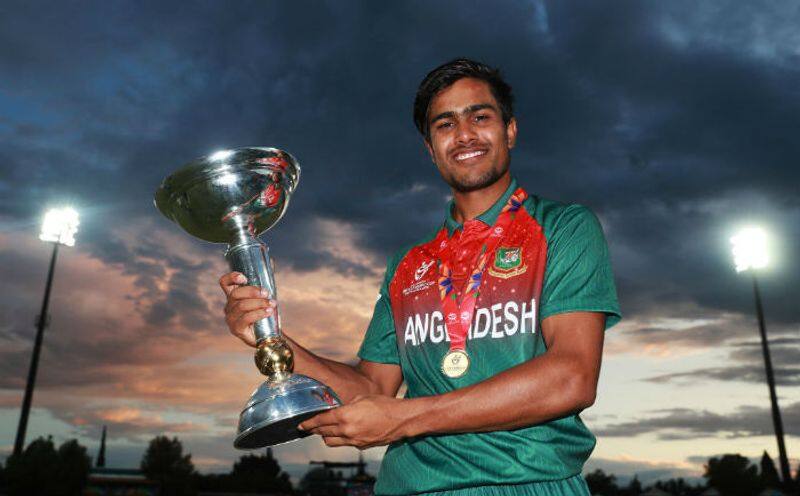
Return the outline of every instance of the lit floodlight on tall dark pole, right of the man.
{"type": "Polygon", "coordinates": [[[778,408],[778,396],[775,394],[775,376],[772,372],[772,359],[769,355],[767,342],[767,329],[764,325],[764,308],[761,305],[761,291],[758,289],[756,271],[769,264],[767,253],[767,234],[758,227],[747,227],[731,238],[733,245],[733,259],[736,272],[750,272],[753,279],[753,294],[756,300],[756,315],[758,329],[761,332],[761,351],[764,353],[764,368],[767,371],[767,385],[769,386],[769,399],[772,403],[772,423],[775,428],[775,437],[778,438],[778,455],[781,463],[781,477],[787,486],[792,482],[789,470],[789,460],[786,456],[786,445],[783,442],[783,421],[778,408]]]}

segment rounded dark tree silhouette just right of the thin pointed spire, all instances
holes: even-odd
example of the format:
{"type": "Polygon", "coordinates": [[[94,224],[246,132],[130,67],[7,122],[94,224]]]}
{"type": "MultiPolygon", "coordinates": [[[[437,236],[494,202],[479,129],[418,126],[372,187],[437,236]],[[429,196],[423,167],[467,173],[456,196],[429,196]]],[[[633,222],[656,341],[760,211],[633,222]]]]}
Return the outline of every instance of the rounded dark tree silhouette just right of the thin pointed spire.
{"type": "Polygon", "coordinates": [[[177,437],[153,438],[142,457],[141,469],[148,478],[161,484],[163,496],[182,496],[191,491],[192,455],[183,454],[183,445],[177,437]]]}

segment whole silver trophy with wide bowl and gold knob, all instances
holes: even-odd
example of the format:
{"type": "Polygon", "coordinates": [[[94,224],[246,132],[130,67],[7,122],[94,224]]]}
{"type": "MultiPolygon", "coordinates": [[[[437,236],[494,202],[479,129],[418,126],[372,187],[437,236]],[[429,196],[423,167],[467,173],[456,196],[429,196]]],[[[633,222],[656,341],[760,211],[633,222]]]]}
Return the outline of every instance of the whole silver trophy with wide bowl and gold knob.
{"type": "MultiPolygon", "coordinates": [[[[300,166],[275,148],[223,150],[185,165],[161,183],[156,207],[192,236],[227,243],[231,270],[277,299],[272,262],[258,236],[283,216],[300,180],[300,166]]],[[[281,335],[278,309],[254,325],[256,366],[267,380],[239,415],[233,446],[255,449],[305,437],[297,425],[341,405],[328,386],[293,374],[292,350],[281,335]]]]}

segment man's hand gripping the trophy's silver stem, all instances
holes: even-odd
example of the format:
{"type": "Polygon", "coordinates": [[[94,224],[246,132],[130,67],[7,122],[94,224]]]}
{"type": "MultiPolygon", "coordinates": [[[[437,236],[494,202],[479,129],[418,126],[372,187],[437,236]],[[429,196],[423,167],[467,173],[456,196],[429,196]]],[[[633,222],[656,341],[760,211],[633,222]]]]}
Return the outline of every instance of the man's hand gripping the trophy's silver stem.
{"type": "Polygon", "coordinates": [[[256,346],[253,324],[275,312],[275,300],[256,286],[246,286],[247,278],[240,272],[229,272],[219,278],[219,285],[228,302],[225,305],[225,323],[231,334],[248,345],[256,346]]]}

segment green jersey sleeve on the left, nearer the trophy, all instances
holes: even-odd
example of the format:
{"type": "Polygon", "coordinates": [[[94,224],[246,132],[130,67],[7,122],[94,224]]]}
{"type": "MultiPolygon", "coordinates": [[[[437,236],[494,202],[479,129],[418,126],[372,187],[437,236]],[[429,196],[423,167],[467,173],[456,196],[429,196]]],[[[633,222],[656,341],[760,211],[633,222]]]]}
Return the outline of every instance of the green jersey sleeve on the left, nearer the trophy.
{"type": "Polygon", "coordinates": [[[389,283],[394,277],[398,262],[398,256],[395,255],[387,264],[386,275],[378,293],[378,301],[375,302],[375,310],[372,312],[372,320],[369,322],[364,340],[358,350],[358,357],[362,360],[400,364],[392,305],[389,300],[389,283]]]}

